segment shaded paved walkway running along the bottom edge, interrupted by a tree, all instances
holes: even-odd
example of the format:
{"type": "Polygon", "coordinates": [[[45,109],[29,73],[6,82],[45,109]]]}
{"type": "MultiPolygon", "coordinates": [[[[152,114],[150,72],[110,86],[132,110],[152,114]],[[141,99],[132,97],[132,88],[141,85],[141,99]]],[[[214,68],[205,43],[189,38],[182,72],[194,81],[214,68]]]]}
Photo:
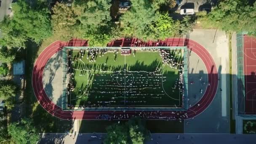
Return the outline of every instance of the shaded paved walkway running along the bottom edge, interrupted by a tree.
{"type": "MultiPolygon", "coordinates": [[[[102,144],[100,136],[105,133],[80,133],[71,135],[67,133],[41,134],[40,144],[102,144]],[[96,135],[97,138],[91,138],[96,135]]],[[[176,134],[152,133],[152,139],[145,144],[255,144],[255,135],[235,134],[176,134]]]]}

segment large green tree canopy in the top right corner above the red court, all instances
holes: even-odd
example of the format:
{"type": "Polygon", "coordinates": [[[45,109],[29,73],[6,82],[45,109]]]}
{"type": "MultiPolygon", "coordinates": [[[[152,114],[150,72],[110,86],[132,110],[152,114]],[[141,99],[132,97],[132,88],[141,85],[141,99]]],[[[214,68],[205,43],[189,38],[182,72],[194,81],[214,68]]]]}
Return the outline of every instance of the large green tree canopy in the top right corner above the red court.
{"type": "Polygon", "coordinates": [[[256,3],[251,5],[248,0],[222,0],[205,21],[224,31],[256,34],[256,3]]]}

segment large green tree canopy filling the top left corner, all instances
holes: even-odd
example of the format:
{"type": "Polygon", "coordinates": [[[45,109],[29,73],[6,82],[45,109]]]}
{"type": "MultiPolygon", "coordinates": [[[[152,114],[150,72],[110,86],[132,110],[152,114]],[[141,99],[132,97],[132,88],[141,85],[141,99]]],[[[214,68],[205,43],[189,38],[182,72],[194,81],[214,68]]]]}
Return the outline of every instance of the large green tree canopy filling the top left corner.
{"type": "MultiPolygon", "coordinates": [[[[42,4],[42,3],[40,3],[42,4]]],[[[8,47],[25,48],[27,38],[39,43],[51,36],[50,13],[47,8],[37,5],[31,8],[25,0],[13,3],[13,17],[1,22],[3,40],[8,47]]]]}

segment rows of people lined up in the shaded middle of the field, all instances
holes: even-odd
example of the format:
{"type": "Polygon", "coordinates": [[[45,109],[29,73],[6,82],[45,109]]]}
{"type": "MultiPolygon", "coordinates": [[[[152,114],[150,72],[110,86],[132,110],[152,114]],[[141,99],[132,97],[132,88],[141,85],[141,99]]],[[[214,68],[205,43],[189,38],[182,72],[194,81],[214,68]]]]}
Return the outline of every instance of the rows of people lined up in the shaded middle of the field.
{"type": "Polygon", "coordinates": [[[144,105],[149,101],[155,101],[153,99],[163,99],[165,92],[162,83],[165,83],[168,77],[154,75],[152,72],[115,72],[104,78],[93,80],[94,86],[88,95],[95,98],[97,105],[118,105],[120,102],[144,105]],[[102,101],[103,97],[111,99],[102,101]]]}

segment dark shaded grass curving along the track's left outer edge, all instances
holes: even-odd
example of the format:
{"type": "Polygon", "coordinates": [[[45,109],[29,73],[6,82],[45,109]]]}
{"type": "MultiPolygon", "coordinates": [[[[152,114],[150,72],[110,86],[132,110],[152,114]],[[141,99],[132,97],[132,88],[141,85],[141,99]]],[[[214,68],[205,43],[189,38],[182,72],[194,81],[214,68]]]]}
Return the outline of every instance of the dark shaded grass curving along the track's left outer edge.
{"type": "MultiPolygon", "coordinates": [[[[38,50],[40,45],[29,41],[27,43],[27,49],[23,50],[26,53],[24,56],[26,63],[26,89],[24,93],[24,108],[25,115],[27,117],[32,117],[35,123],[35,127],[38,129],[40,133],[56,133],[64,131],[69,131],[72,126],[72,121],[61,120],[53,115],[49,114],[41,105],[38,103],[33,87],[32,87],[32,70],[34,67],[34,62],[38,57],[38,50]],[[62,128],[63,126],[63,128],[62,128]]],[[[58,65],[56,65],[58,67],[58,65]]],[[[37,67],[35,67],[37,69],[37,67]]],[[[52,72],[54,73],[54,72],[52,72]]],[[[58,101],[61,101],[58,99],[58,101]]]]}

